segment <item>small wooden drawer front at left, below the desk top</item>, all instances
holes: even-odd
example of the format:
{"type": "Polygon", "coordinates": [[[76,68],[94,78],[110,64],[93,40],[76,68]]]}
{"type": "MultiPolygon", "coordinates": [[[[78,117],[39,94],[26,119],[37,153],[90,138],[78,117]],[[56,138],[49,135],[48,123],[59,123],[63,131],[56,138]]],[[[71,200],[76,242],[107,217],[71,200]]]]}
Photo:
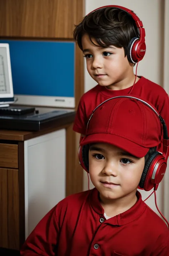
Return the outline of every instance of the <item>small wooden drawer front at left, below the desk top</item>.
{"type": "Polygon", "coordinates": [[[0,167],[18,168],[18,145],[0,143],[0,167]]]}

